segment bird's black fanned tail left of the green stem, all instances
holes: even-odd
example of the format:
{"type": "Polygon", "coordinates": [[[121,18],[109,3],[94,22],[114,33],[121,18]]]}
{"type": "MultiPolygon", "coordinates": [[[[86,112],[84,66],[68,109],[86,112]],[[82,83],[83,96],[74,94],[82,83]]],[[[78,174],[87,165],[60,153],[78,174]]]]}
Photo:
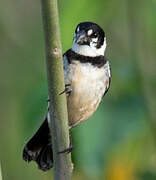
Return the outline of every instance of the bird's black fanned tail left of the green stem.
{"type": "Polygon", "coordinates": [[[53,167],[53,152],[50,144],[50,132],[47,118],[23,150],[23,159],[36,161],[38,168],[47,171],[53,167]]]}

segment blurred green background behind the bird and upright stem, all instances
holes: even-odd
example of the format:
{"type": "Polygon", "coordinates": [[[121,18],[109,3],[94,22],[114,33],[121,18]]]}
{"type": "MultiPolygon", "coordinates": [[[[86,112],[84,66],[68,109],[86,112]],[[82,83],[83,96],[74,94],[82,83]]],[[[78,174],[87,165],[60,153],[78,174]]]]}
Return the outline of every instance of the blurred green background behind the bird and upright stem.
{"type": "MultiPolygon", "coordinates": [[[[112,83],[93,117],[73,129],[74,180],[156,179],[156,0],[60,0],[63,52],[76,25],[93,21],[107,36],[112,83]]],[[[0,160],[3,180],[49,180],[22,160],[46,112],[40,1],[0,6],[0,160]]]]}

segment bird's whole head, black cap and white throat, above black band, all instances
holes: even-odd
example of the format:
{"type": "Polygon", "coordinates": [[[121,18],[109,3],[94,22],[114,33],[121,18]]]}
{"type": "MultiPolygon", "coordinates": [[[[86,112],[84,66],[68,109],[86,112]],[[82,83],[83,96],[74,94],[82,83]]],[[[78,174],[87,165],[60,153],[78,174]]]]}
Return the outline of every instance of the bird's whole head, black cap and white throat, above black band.
{"type": "Polygon", "coordinates": [[[92,22],[79,23],[75,30],[72,49],[83,55],[104,55],[106,38],[103,29],[92,22]]]}

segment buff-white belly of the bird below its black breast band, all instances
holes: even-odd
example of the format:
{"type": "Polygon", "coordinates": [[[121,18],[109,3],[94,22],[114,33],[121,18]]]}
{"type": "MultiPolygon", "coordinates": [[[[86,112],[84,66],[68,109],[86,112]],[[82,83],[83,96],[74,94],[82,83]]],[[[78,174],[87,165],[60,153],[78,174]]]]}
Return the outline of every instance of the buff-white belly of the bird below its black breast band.
{"type": "Polygon", "coordinates": [[[101,71],[87,74],[82,68],[76,68],[70,76],[72,92],[67,97],[70,127],[74,127],[92,116],[101,102],[107,81],[103,70],[101,71]]]}

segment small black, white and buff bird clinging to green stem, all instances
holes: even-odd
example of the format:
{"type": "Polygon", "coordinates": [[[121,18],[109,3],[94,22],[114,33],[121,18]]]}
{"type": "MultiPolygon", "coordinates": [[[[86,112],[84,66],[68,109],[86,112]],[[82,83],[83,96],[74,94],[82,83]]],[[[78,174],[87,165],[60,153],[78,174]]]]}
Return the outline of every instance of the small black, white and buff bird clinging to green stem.
{"type": "MultiPolygon", "coordinates": [[[[111,68],[105,49],[105,32],[98,24],[77,25],[72,47],[63,54],[65,90],[62,93],[67,97],[69,131],[94,114],[109,90],[111,68]]],[[[35,161],[42,171],[53,167],[48,119],[49,112],[23,149],[23,159],[35,161]]]]}

